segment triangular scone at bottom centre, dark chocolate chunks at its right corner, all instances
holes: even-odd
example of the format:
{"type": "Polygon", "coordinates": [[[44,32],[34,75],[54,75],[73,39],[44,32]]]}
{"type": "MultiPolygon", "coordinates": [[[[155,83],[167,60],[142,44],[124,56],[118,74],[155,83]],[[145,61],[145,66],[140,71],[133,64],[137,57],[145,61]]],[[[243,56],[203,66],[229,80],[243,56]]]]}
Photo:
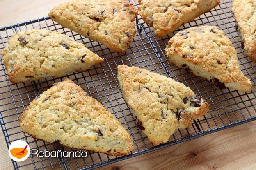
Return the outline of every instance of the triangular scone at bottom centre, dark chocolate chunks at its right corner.
{"type": "Polygon", "coordinates": [[[208,103],[182,83],[138,67],[118,66],[124,100],[153,145],[208,112],[208,103]]]}

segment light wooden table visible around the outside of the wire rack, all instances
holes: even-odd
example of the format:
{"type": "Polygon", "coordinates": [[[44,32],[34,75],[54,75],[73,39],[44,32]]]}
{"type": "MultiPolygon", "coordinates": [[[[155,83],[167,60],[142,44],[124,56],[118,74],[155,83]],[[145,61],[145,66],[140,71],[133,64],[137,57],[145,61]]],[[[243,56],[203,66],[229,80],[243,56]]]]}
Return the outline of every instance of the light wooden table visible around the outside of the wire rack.
{"type": "MultiPolygon", "coordinates": [[[[47,16],[68,0],[0,0],[0,27],[47,16]]],[[[238,125],[98,170],[256,170],[256,121],[238,125]]],[[[13,169],[0,130],[0,170],[13,169]]]]}

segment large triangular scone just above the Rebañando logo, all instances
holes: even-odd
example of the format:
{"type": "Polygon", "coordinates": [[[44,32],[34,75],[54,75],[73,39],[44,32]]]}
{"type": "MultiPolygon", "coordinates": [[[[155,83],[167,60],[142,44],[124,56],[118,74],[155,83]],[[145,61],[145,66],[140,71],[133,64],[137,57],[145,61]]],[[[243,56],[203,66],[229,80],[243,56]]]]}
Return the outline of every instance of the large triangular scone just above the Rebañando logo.
{"type": "Polygon", "coordinates": [[[71,148],[128,155],[133,147],[121,123],[69,79],[34,99],[20,125],[34,138],[71,148]]]}

